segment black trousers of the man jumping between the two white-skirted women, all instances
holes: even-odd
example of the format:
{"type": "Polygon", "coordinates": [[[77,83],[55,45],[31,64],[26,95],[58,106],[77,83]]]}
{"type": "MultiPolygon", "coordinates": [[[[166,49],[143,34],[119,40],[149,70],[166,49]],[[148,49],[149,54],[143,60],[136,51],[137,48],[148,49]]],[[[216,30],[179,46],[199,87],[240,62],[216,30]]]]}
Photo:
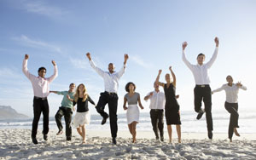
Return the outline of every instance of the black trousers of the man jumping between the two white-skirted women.
{"type": "Polygon", "coordinates": [[[108,113],[104,111],[105,106],[108,103],[109,111],[109,123],[111,129],[111,135],[113,138],[117,136],[118,125],[117,125],[117,106],[119,97],[117,94],[108,94],[108,92],[101,93],[100,99],[96,106],[96,110],[101,114],[102,117],[108,117],[108,113]]]}

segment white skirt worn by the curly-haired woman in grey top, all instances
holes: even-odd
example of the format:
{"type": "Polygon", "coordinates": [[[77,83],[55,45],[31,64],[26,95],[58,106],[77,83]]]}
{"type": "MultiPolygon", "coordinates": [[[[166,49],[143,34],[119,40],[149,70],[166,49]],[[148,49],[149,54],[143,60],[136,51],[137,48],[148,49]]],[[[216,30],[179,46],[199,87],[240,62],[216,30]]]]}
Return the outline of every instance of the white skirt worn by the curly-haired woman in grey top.
{"type": "Polygon", "coordinates": [[[127,123],[131,124],[132,122],[139,122],[140,111],[137,105],[128,105],[126,112],[127,123]]]}

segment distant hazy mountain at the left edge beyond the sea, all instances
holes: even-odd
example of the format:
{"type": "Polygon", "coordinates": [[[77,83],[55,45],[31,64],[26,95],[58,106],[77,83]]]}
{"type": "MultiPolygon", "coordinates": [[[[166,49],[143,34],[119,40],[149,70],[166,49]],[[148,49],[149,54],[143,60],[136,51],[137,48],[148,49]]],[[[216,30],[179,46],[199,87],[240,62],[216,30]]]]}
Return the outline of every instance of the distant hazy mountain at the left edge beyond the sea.
{"type": "Polygon", "coordinates": [[[20,117],[28,117],[28,116],[18,113],[11,106],[0,106],[0,119],[20,118],[20,117]]]}

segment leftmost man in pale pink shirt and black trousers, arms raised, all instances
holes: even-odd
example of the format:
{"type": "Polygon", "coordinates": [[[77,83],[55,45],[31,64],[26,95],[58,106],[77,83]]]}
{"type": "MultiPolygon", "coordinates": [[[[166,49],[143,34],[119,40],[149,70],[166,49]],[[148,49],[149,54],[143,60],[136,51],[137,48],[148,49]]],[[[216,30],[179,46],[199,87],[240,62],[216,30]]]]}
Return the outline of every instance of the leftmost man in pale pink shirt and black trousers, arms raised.
{"type": "Polygon", "coordinates": [[[49,105],[47,96],[49,95],[49,83],[51,83],[55,77],[58,76],[58,69],[54,60],[52,60],[52,64],[54,66],[54,74],[51,77],[44,77],[46,74],[46,69],[44,67],[40,67],[38,69],[38,77],[32,75],[27,69],[27,60],[29,56],[25,54],[25,59],[22,64],[22,71],[25,76],[31,81],[34,99],[33,99],[33,122],[32,122],[32,142],[34,144],[38,144],[37,140],[37,132],[38,132],[38,122],[41,116],[41,112],[43,112],[44,116],[44,140],[48,140],[48,132],[49,132],[49,105]]]}

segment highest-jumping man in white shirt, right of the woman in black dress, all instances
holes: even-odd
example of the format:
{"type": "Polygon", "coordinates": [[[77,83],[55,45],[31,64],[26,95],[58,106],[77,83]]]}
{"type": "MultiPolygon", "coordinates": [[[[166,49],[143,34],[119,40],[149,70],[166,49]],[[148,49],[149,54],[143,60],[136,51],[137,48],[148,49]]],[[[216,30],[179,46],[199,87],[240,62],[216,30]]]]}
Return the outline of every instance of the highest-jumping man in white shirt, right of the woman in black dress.
{"type": "Polygon", "coordinates": [[[191,65],[189,61],[185,57],[185,49],[188,45],[187,42],[183,43],[183,62],[186,66],[189,67],[190,71],[192,71],[193,76],[195,78],[195,111],[198,112],[197,119],[200,119],[204,112],[206,112],[207,117],[207,130],[208,130],[208,138],[212,139],[212,90],[210,88],[210,78],[208,76],[208,70],[212,66],[213,62],[216,60],[218,55],[218,37],[214,39],[216,43],[216,48],[212,55],[211,60],[209,60],[206,64],[204,64],[204,60],[206,58],[205,54],[198,54],[197,56],[197,65],[191,65]],[[205,104],[205,109],[201,108],[201,101],[203,100],[205,104]]]}

